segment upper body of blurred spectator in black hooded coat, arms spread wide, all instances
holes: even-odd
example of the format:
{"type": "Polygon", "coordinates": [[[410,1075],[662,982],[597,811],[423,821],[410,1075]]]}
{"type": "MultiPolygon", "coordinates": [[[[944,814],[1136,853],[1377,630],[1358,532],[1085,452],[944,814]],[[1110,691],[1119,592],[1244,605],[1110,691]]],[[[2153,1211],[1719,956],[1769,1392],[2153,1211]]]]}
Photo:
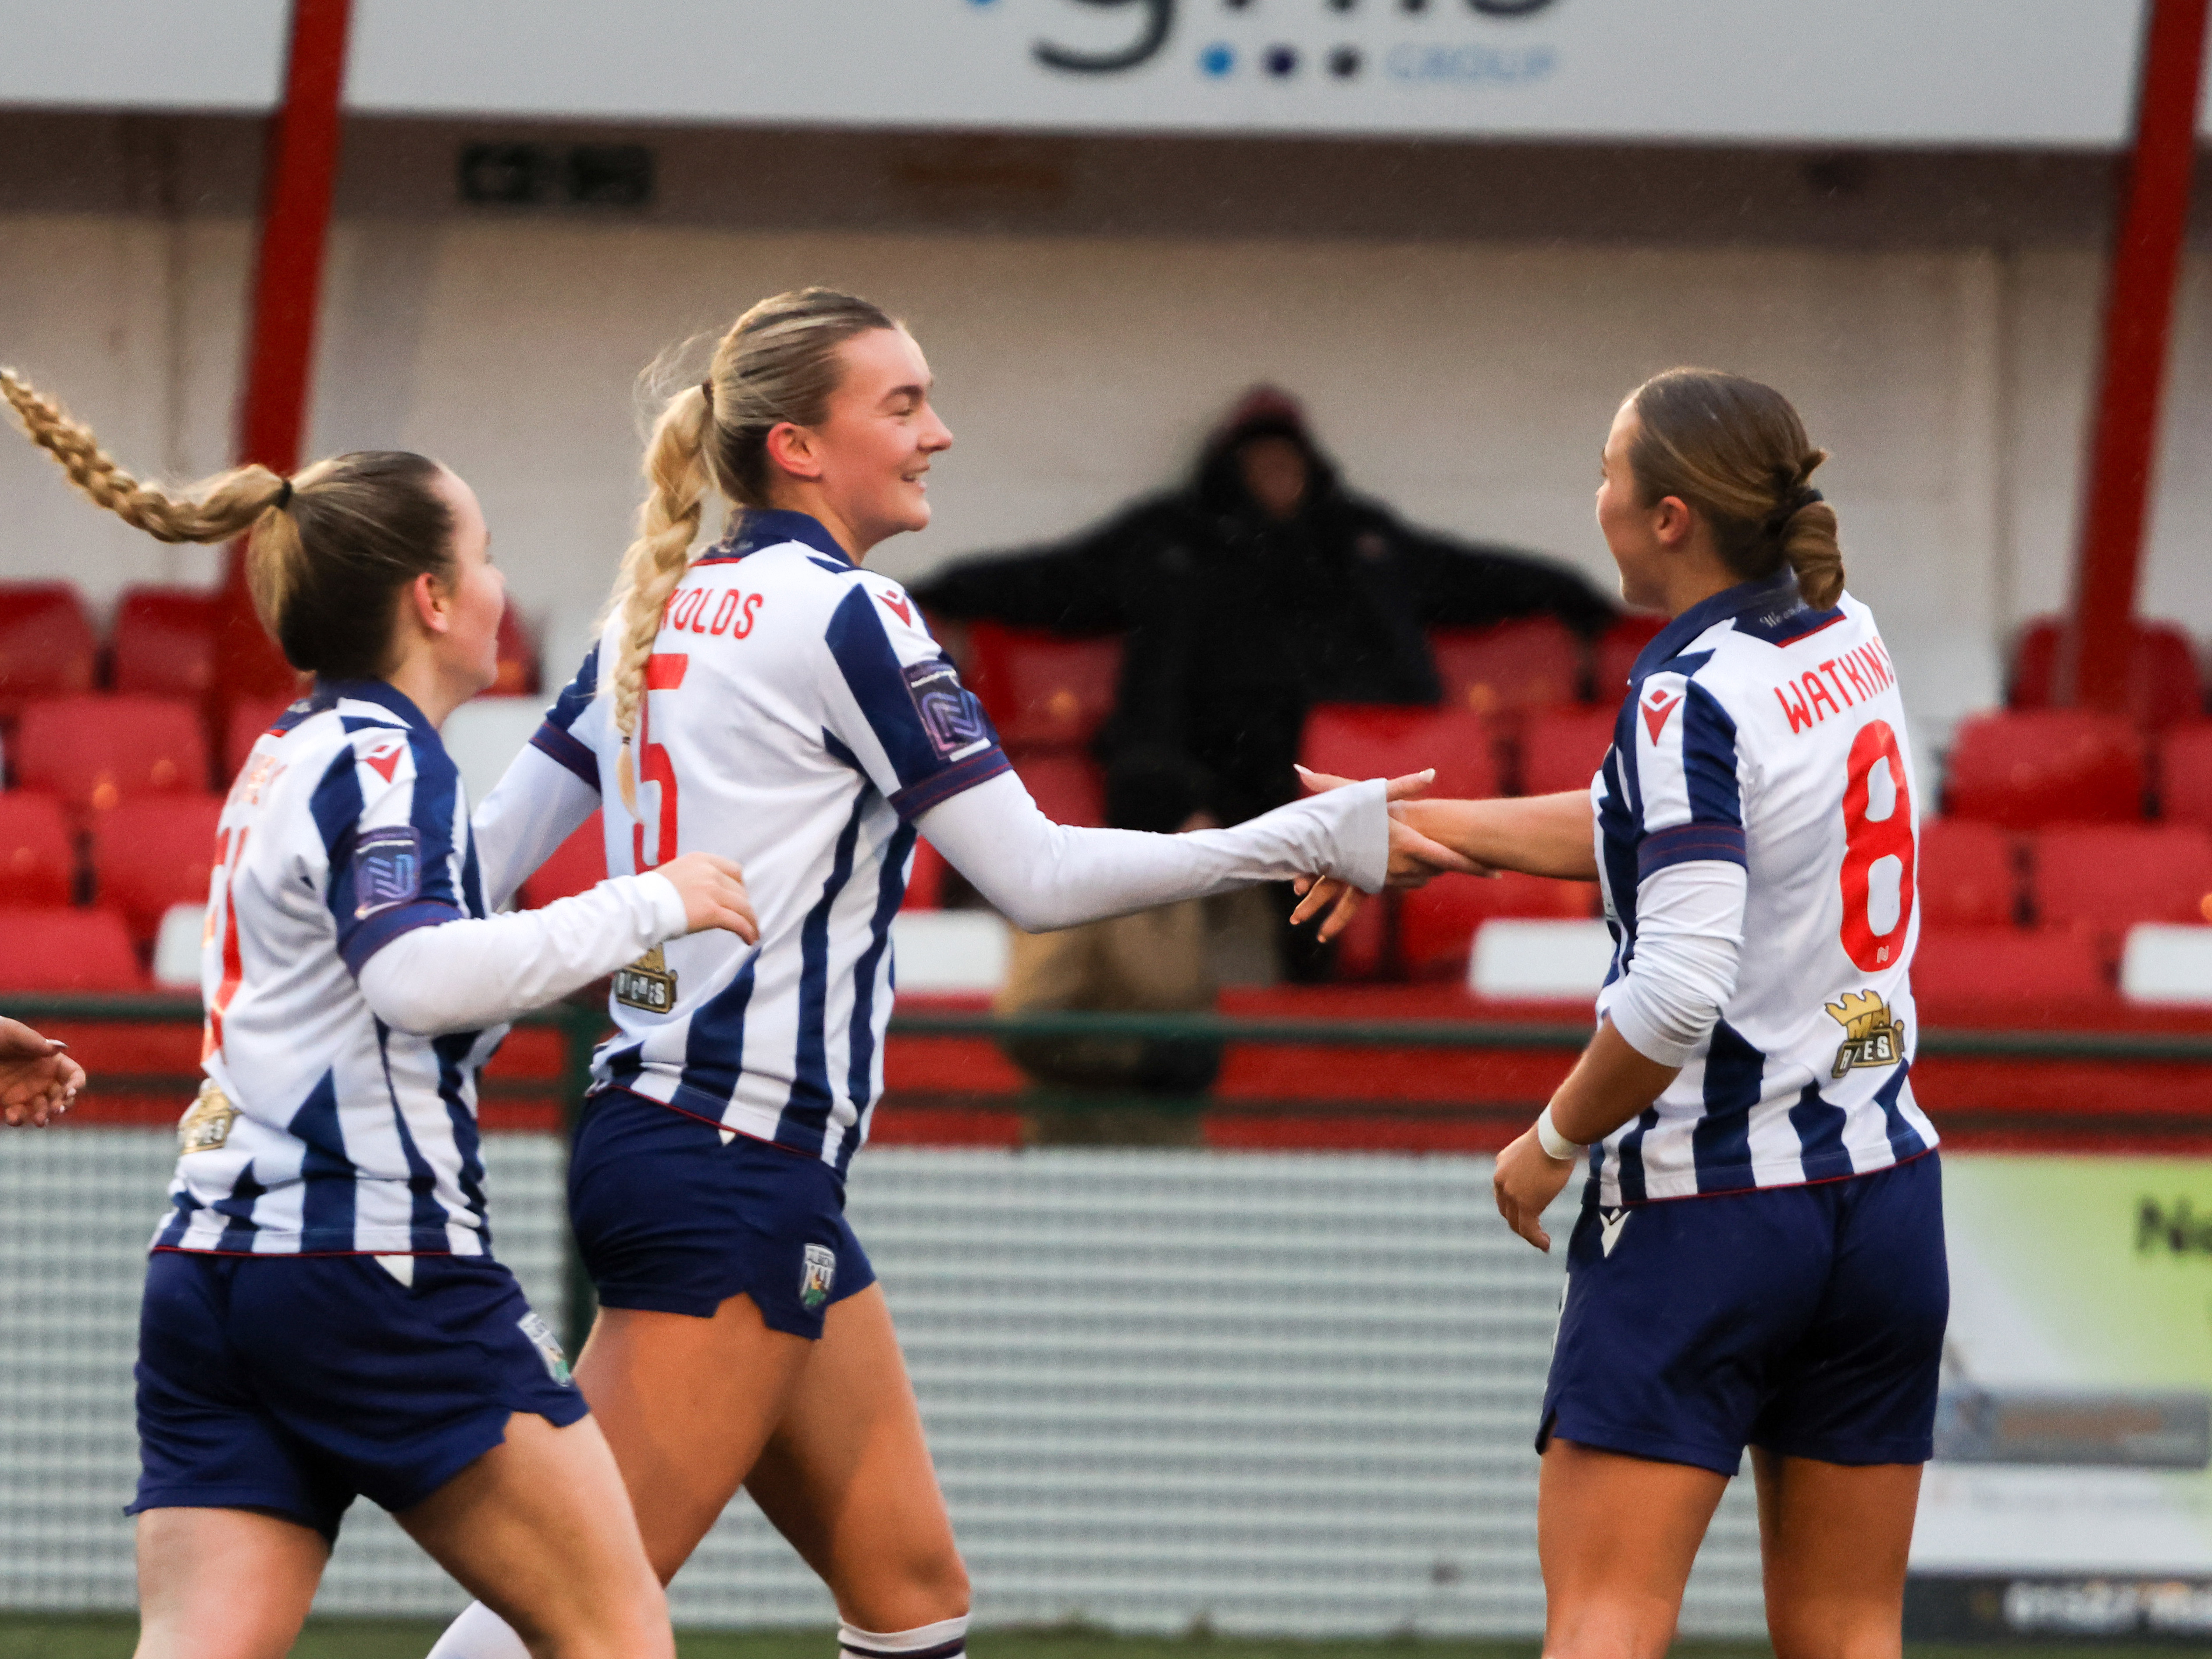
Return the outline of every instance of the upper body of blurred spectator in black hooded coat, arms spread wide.
{"type": "Polygon", "coordinates": [[[1425,630],[1553,615],[1582,633],[1615,608],[1546,560],[1469,546],[1352,495],[1298,405],[1254,389],[1197,478],[1060,546],[962,562],[916,586],[953,622],[1128,639],[1108,763],[1175,750],[1241,823],[1296,794],[1314,703],[1433,703],[1425,630]]]}

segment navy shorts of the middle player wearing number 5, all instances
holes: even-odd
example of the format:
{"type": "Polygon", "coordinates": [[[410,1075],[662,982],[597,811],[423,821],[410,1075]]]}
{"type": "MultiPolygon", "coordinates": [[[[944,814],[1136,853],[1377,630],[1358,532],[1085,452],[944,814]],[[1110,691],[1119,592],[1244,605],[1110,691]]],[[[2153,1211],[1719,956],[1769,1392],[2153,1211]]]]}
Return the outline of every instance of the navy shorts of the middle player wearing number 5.
{"type": "Polygon", "coordinates": [[[750,1296],[774,1332],[818,1340],[876,1283],[845,1183],[807,1152],[734,1135],[626,1088],[593,1095],[568,1155],[568,1221],[606,1307],[712,1318],[750,1296]]]}

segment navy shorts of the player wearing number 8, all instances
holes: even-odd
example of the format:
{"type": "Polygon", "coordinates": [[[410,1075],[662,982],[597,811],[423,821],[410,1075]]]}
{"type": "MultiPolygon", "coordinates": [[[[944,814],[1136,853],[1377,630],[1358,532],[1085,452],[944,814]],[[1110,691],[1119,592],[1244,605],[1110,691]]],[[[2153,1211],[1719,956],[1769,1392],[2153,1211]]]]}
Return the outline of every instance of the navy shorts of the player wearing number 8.
{"type": "Polygon", "coordinates": [[[1745,1447],[1927,1462],[1949,1316],[1933,1152],[1847,1181],[1586,1206],[1535,1444],[1723,1475],[1745,1447]]]}

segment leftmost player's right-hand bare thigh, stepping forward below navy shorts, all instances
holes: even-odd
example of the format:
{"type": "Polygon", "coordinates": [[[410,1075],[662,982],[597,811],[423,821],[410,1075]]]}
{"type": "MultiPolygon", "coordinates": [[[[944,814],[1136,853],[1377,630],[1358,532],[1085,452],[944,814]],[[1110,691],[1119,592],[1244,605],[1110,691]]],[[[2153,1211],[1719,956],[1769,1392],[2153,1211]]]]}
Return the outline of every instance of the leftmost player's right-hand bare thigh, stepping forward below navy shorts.
{"type": "Polygon", "coordinates": [[[533,1655],[675,1655],[668,1601],[591,1418],[515,1413],[498,1447],[398,1522],[533,1655]]]}

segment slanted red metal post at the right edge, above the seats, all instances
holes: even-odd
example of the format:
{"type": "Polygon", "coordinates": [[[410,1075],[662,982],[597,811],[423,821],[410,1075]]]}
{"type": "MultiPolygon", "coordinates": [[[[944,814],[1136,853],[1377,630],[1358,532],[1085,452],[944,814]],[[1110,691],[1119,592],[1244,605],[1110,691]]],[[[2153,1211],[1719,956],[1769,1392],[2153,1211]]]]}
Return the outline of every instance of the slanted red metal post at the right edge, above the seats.
{"type": "Polygon", "coordinates": [[[2057,695],[2064,703],[2115,714],[2128,708],[2135,588],[2159,442],[2166,336],[2197,164],[2208,9],[2212,0],[2146,0],[2135,148],[2112,226],[2073,619],[2059,655],[2057,695]]]}

